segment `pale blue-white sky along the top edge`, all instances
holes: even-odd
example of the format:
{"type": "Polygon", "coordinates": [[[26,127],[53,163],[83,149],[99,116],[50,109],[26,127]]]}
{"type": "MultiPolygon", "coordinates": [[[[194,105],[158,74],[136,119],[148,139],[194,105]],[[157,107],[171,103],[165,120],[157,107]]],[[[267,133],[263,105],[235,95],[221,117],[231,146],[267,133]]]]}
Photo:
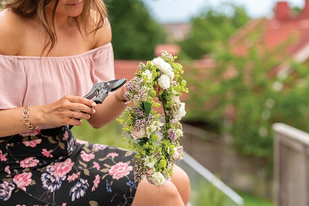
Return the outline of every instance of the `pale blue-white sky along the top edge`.
{"type": "MultiPolygon", "coordinates": [[[[184,23],[197,16],[203,8],[218,8],[223,3],[243,6],[250,17],[271,17],[279,0],[143,0],[150,14],[159,23],[184,23]]],[[[281,0],[282,1],[282,0],[281,0]]],[[[286,0],[290,7],[303,8],[305,0],[286,0]]]]}

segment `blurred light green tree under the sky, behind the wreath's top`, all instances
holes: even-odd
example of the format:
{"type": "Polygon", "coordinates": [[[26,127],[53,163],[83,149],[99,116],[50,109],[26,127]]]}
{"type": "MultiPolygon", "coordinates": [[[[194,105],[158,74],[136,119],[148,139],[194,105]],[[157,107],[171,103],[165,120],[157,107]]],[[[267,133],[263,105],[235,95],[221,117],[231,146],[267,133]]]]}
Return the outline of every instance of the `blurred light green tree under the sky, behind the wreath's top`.
{"type": "Polygon", "coordinates": [[[226,4],[219,9],[209,8],[191,21],[188,37],[180,42],[182,55],[199,59],[213,50],[216,42],[226,42],[249,17],[244,8],[226,4]]]}

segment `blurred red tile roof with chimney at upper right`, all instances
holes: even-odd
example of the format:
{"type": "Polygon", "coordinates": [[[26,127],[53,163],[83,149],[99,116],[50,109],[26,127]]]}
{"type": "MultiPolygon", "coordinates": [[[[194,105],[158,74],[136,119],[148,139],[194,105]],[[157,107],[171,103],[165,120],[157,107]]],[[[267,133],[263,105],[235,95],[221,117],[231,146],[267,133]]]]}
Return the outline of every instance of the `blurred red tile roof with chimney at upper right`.
{"type": "Polygon", "coordinates": [[[302,13],[295,16],[286,1],[279,1],[274,8],[273,19],[251,20],[230,38],[233,51],[243,55],[251,45],[249,35],[261,27],[261,52],[288,43],[286,52],[295,60],[303,62],[309,58],[309,0],[305,0],[302,13]],[[263,46],[262,46],[263,45],[263,46]]]}

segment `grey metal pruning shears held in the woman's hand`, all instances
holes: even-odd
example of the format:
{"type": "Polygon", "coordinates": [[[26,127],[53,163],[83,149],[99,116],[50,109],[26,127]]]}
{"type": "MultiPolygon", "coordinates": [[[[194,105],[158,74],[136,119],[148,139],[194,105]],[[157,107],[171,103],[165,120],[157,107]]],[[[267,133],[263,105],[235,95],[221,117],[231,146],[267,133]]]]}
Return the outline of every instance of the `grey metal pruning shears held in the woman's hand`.
{"type": "MultiPolygon", "coordinates": [[[[105,98],[108,96],[109,92],[114,92],[126,83],[127,79],[114,79],[111,81],[99,81],[93,84],[90,92],[84,96],[88,100],[99,104],[103,103],[105,98]]],[[[73,125],[69,126],[69,129],[72,129],[73,125]]]]}

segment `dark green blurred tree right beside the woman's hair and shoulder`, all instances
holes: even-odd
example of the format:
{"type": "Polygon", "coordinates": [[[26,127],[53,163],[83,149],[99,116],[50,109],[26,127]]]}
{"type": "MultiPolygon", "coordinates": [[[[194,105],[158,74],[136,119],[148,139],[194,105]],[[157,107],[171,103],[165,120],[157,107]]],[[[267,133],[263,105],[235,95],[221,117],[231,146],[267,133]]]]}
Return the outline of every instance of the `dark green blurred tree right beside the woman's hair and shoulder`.
{"type": "Polygon", "coordinates": [[[166,31],[149,14],[141,0],[106,0],[116,59],[152,59],[166,31]]]}

